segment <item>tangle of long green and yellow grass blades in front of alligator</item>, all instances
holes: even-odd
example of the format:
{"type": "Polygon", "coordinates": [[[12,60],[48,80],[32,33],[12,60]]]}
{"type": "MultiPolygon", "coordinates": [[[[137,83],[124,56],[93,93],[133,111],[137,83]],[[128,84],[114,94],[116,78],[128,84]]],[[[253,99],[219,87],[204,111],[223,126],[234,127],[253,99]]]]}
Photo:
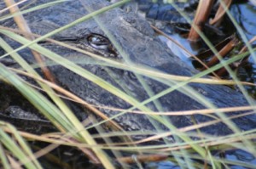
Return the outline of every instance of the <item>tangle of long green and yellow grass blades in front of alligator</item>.
{"type": "MultiPolygon", "coordinates": [[[[50,5],[55,5],[55,3],[61,2],[62,1],[55,1],[53,3],[37,6],[35,8],[30,8],[22,11],[20,14],[26,14],[33,10],[38,10],[39,8],[47,8],[50,5]]],[[[202,96],[201,93],[198,93],[197,91],[195,91],[195,89],[189,87],[188,85],[190,82],[210,84],[236,84],[241,89],[241,92],[247,99],[250,106],[252,106],[251,110],[253,110],[255,107],[254,101],[248,96],[247,92],[242,86],[242,83],[239,82],[239,80],[236,78],[235,73],[229,68],[230,63],[233,63],[236,60],[241,59],[242,57],[247,55],[248,52],[245,54],[234,56],[232,59],[222,60],[218,65],[214,65],[212,68],[204,70],[196,74],[195,76],[191,77],[168,75],[164,72],[154,70],[150,67],[136,65],[136,63],[132,63],[131,60],[128,59],[127,54],[124,53],[122,48],[119,46],[117,40],[114,39],[114,37],[109,33],[108,29],[102,24],[102,20],[96,17],[97,14],[102,14],[111,8],[117,8],[119,5],[128,2],[129,0],[120,1],[119,3],[114,3],[113,5],[110,5],[106,8],[102,8],[100,10],[91,12],[90,14],[81,17],[79,20],[74,20],[73,23],[65,25],[59,29],[56,29],[55,31],[51,31],[42,37],[37,37],[35,40],[32,41],[20,36],[18,33],[14,31],[4,29],[3,27],[1,27],[2,29],[0,29],[0,32],[3,35],[10,37],[16,42],[20,42],[20,44],[22,44],[20,48],[13,49],[9,46],[8,42],[4,42],[2,38],[0,39],[1,48],[3,48],[6,51],[6,54],[3,54],[3,56],[0,57],[0,60],[10,55],[13,59],[15,59],[16,63],[20,65],[20,70],[14,70],[9,69],[9,67],[0,64],[1,80],[14,86],[20,93],[22,93],[22,95],[26,97],[26,99],[28,99],[42,113],[42,115],[44,115],[49,121],[51,121],[52,124],[60,131],[59,133],[49,133],[49,137],[44,135],[37,136],[26,132],[16,131],[16,129],[13,126],[5,122],[2,122],[0,130],[0,158],[3,167],[14,168],[15,166],[19,166],[22,164],[26,168],[41,168],[42,166],[40,166],[37,157],[39,157],[40,155],[44,155],[44,153],[35,153],[34,155],[32,154],[32,150],[29,149],[25,141],[26,139],[32,139],[50,143],[56,146],[63,144],[67,146],[77,147],[78,149],[81,150],[81,152],[84,153],[84,155],[90,158],[90,161],[94,161],[95,163],[102,163],[102,165],[106,168],[114,168],[115,166],[113,165],[113,161],[115,160],[119,161],[120,165],[123,168],[131,167],[124,162],[127,161],[127,159],[125,160],[125,154],[122,154],[121,152],[129,152],[133,154],[134,156],[132,156],[131,159],[128,160],[132,161],[133,159],[133,161],[135,162],[135,166],[132,167],[138,168],[143,168],[142,164],[140,163],[140,157],[142,157],[142,155],[145,155],[146,157],[150,157],[152,155],[162,155],[161,157],[163,157],[163,159],[165,159],[166,161],[172,161],[174,164],[177,164],[181,168],[222,168],[228,167],[230,165],[253,168],[253,164],[247,164],[244,161],[231,161],[229,159],[219,158],[218,155],[214,155],[214,153],[216,152],[216,150],[219,149],[221,151],[224,151],[226,149],[243,149],[249,152],[250,154],[256,155],[255,145],[252,141],[255,138],[254,129],[247,132],[241,132],[238,129],[238,127],[236,127],[236,124],[234,124],[231,121],[231,118],[236,118],[239,115],[231,117],[226,115],[225,110],[218,109],[214,104],[210,103],[204,96],[202,96]],[[90,54],[90,56],[93,59],[92,61],[90,61],[89,64],[101,65],[102,67],[105,67],[106,70],[108,69],[107,67],[114,67],[121,70],[131,71],[135,74],[135,76],[141,83],[138,85],[142,85],[145,88],[145,91],[148,93],[149,96],[148,99],[144,100],[143,102],[139,102],[137,101],[136,98],[133,98],[131,95],[129,95],[129,93],[125,93],[118,87],[114,87],[109,82],[104,81],[101,77],[90,73],[90,71],[84,70],[79,64],[87,64],[86,61],[65,59],[61,57],[61,55],[55,54],[54,52],[49,51],[49,49],[37,44],[37,42],[52,37],[56,33],[64,31],[67,28],[70,28],[73,25],[77,25],[85,20],[89,20],[92,17],[94,17],[98,25],[101,26],[102,31],[105,32],[105,34],[108,36],[111,42],[113,42],[115,48],[119,50],[119,53],[123,56],[125,62],[119,63],[118,61],[112,59],[102,58],[101,56],[97,56],[96,54],[90,54]],[[127,110],[122,110],[114,107],[101,107],[99,105],[88,104],[88,106],[98,107],[101,109],[116,110],[119,111],[119,114],[113,115],[112,117],[107,117],[102,121],[97,121],[95,118],[90,117],[90,121],[93,121],[94,124],[90,125],[89,127],[84,127],[83,124],[74,115],[72,110],[70,110],[68,106],[62,101],[62,99],[67,99],[67,97],[73,95],[71,93],[68,93],[61,87],[56,87],[55,84],[52,84],[51,82],[46,82],[42,76],[38,75],[38,73],[34,70],[34,68],[37,68],[38,65],[29,65],[26,62],[26,60],[22,59],[22,56],[20,56],[20,54],[17,53],[23,48],[31,48],[32,50],[37,51],[39,54],[42,54],[46,58],[50,59],[51,62],[46,62],[46,65],[61,65],[67,68],[68,70],[71,70],[74,73],[78,74],[79,76],[82,76],[84,79],[87,79],[90,82],[94,82],[97,86],[104,88],[109,93],[113,93],[114,95],[118,96],[119,99],[123,99],[128,104],[131,104],[131,108],[127,110]],[[203,78],[203,76],[206,76],[210,72],[218,70],[221,67],[225,67],[227,70],[229,70],[230,76],[233,78],[233,81],[212,80],[207,79],[205,77],[203,78]],[[44,92],[53,102],[49,101],[49,99],[47,99],[42,93],[38,92],[38,90],[33,88],[22,78],[20,78],[19,74],[16,74],[16,72],[23,72],[23,76],[28,74],[27,76],[34,78],[35,81],[38,82],[38,85],[42,87],[42,90],[44,90],[44,92]],[[154,79],[157,82],[165,84],[167,86],[166,90],[160,93],[154,93],[153,90],[150,87],[148,87],[147,83],[144,82],[143,76],[146,76],[148,78],[154,79]],[[215,118],[215,120],[208,121],[202,124],[195,123],[195,125],[190,127],[176,128],[168,120],[168,116],[172,115],[172,113],[174,114],[174,112],[166,113],[166,115],[156,115],[157,112],[154,112],[154,110],[151,110],[148,106],[146,106],[146,104],[153,102],[157,110],[159,112],[162,112],[163,109],[159,100],[160,97],[165,96],[168,93],[172,93],[176,90],[199,101],[201,104],[205,105],[209,110],[212,110],[212,113],[218,115],[218,118],[215,118]],[[66,97],[64,97],[64,95],[66,97]],[[169,130],[164,132],[161,131],[160,129],[157,130],[157,132],[125,132],[125,129],[117,127],[118,129],[115,128],[115,131],[113,130],[113,132],[109,132],[102,127],[102,124],[105,124],[109,121],[111,122],[114,120],[114,118],[118,117],[119,115],[124,115],[126,113],[142,113],[148,116],[148,118],[154,124],[156,129],[158,129],[156,125],[158,123],[156,123],[155,121],[158,121],[169,130]],[[211,126],[221,121],[224,122],[228,127],[230,127],[233,130],[234,134],[217,137],[207,135],[206,133],[202,133],[200,131],[201,127],[211,126]],[[96,127],[96,129],[99,131],[99,134],[93,134],[88,132],[88,129],[92,127],[96,127]],[[191,132],[192,130],[196,130],[197,132],[191,132]],[[148,134],[153,134],[153,136],[144,138],[143,140],[139,141],[132,141],[131,139],[131,136],[133,135],[148,134]],[[12,135],[13,137],[10,138],[10,135],[12,135]],[[111,141],[111,139],[109,138],[114,136],[119,137],[121,138],[121,140],[124,141],[122,143],[113,143],[113,141],[111,141]],[[171,143],[166,139],[166,142],[162,144],[147,145],[148,141],[153,141],[159,138],[166,138],[169,136],[173,136],[173,138],[175,139],[175,143],[171,143]],[[201,139],[195,140],[192,139],[193,137],[201,139]],[[96,143],[96,138],[103,138],[106,144],[96,143]],[[91,155],[90,150],[95,155],[91,155]],[[111,150],[113,152],[113,156],[109,157],[105,150],[111,150]]],[[[177,8],[175,4],[173,4],[173,6],[177,8]]],[[[87,10],[90,10],[90,8],[87,8],[87,10]]],[[[187,18],[187,20],[189,20],[189,18],[186,17],[186,14],[184,14],[182,11],[180,12],[185,18],[187,18]]],[[[232,19],[231,14],[229,12],[227,14],[229,15],[230,19],[234,22],[234,25],[236,25],[236,28],[239,31],[239,33],[241,33],[243,41],[247,44],[249,48],[249,53],[253,54],[255,48],[253,49],[247,42],[247,39],[244,38],[244,36],[242,35],[242,31],[239,28],[239,25],[237,25],[235,20],[232,19]]],[[[15,15],[16,14],[8,14],[2,16],[0,20],[7,20],[10,17],[14,17],[15,15]]],[[[189,20],[189,22],[191,22],[191,20],[189,20]]],[[[201,38],[203,38],[204,41],[207,43],[209,48],[212,49],[212,52],[218,55],[218,51],[216,51],[216,49],[213,48],[213,45],[211,44],[211,42],[207,40],[207,37],[204,36],[204,34],[200,31],[198,33],[200,34],[201,38]]],[[[73,48],[71,46],[68,46],[67,44],[61,45],[67,48],[73,48]]],[[[79,48],[73,49],[81,53],[88,54],[87,52],[81,51],[79,48]]],[[[86,103],[86,100],[83,100],[84,102],[82,103],[81,99],[76,97],[72,97],[72,99],[73,101],[79,102],[81,104],[86,103]]],[[[241,108],[241,110],[242,109],[243,108],[241,108]]],[[[246,109],[247,108],[244,107],[244,110],[246,109]]],[[[233,111],[236,111],[236,109],[234,108],[233,111]]],[[[183,111],[180,113],[186,114],[189,113],[189,111],[183,111]]],[[[195,111],[194,113],[192,113],[192,115],[196,113],[197,112],[195,111]]],[[[254,112],[251,112],[251,114],[253,113],[254,112]]],[[[249,113],[245,115],[248,114],[249,113]]],[[[55,146],[53,146],[52,149],[54,148],[55,146]]]]}

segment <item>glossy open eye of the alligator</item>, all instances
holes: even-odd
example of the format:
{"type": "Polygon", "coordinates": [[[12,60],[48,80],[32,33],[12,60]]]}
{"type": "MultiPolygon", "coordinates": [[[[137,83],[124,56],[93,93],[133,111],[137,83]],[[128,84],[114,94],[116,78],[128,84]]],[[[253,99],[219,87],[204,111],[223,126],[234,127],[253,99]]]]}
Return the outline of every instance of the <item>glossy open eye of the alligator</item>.
{"type": "Polygon", "coordinates": [[[98,34],[91,34],[89,37],[87,37],[87,40],[90,46],[96,49],[108,50],[109,46],[111,45],[111,42],[109,42],[107,37],[103,37],[98,34]]]}

